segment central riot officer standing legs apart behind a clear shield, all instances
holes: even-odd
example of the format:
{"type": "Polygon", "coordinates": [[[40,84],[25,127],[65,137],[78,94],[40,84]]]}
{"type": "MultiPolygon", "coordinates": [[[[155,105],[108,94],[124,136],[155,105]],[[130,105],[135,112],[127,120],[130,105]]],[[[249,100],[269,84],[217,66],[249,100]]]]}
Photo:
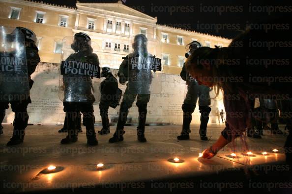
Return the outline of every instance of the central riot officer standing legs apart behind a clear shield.
{"type": "Polygon", "coordinates": [[[124,125],[127,121],[129,108],[132,107],[136,97],[138,111],[139,111],[139,124],[137,127],[137,137],[138,141],[146,142],[145,138],[145,124],[146,124],[146,115],[147,115],[147,103],[150,100],[150,94],[147,92],[149,90],[149,85],[151,84],[152,77],[151,72],[147,70],[133,70],[129,71],[129,59],[131,57],[136,57],[138,61],[140,61],[146,55],[149,56],[147,51],[147,38],[143,34],[138,34],[134,38],[134,42],[132,44],[132,48],[134,49],[133,53],[129,54],[126,58],[124,58],[121,63],[118,76],[119,83],[124,85],[127,81],[127,88],[123,95],[122,102],[120,104],[119,117],[117,121],[117,129],[114,136],[109,140],[110,143],[123,141],[124,134],[124,125]],[[142,73],[136,74],[136,73],[142,73]],[[143,79],[142,79],[143,77],[143,79]],[[140,79],[141,78],[141,79],[140,79]],[[129,87],[129,83],[136,83],[133,87],[129,87]]]}

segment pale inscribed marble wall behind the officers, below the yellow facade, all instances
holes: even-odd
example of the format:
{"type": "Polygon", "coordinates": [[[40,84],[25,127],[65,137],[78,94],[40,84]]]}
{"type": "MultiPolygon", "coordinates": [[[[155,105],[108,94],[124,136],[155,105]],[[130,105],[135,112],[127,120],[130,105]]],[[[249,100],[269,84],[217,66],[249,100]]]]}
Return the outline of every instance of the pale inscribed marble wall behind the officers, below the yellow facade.
{"type": "MultiPolygon", "coordinates": [[[[112,70],[117,76],[117,70],[112,70]]],[[[49,124],[60,123],[64,121],[65,113],[63,104],[59,99],[59,64],[40,63],[31,78],[34,85],[30,91],[32,103],[29,104],[29,123],[49,124]]],[[[125,86],[119,85],[124,92],[125,86]]],[[[160,94],[153,94],[148,103],[148,122],[172,122],[174,124],[182,123],[181,105],[186,93],[185,82],[179,75],[162,74],[162,90],[160,94]]],[[[211,91],[211,97],[214,93],[211,91]]],[[[209,123],[218,123],[218,110],[224,109],[222,95],[212,99],[211,114],[209,123]],[[218,110],[217,110],[218,109],[218,110]]],[[[109,117],[116,118],[119,106],[116,109],[110,108],[109,117]]],[[[100,122],[98,103],[94,104],[95,121],[100,122]]],[[[6,117],[3,122],[12,123],[14,114],[10,109],[6,111],[6,117]]],[[[129,111],[129,118],[132,121],[138,121],[138,108],[136,102],[129,111]]],[[[196,107],[193,113],[192,123],[200,122],[199,107],[196,107]]]]}

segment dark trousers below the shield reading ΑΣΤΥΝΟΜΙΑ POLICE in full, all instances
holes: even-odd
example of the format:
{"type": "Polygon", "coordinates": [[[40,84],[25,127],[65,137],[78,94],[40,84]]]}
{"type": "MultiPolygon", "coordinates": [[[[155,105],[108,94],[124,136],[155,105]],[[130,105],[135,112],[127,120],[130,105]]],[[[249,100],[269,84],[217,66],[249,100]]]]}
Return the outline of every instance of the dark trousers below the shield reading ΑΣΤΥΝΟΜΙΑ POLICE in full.
{"type": "Polygon", "coordinates": [[[95,136],[94,131],[94,114],[92,102],[63,102],[64,112],[67,117],[68,135],[77,136],[78,134],[78,122],[80,112],[83,114],[83,125],[86,126],[86,136],[95,136]]]}

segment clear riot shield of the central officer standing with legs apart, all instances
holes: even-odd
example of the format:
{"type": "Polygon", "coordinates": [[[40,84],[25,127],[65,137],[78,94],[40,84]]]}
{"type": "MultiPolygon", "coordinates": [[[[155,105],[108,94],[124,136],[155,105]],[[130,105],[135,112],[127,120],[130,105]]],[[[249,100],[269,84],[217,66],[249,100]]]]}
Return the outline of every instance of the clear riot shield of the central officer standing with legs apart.
{"type": "Polygon", "coordinates": [[[151,34],[134,34],[128,55],[128,90],[131,94],[162,91],[161,40],[151,34]]]}

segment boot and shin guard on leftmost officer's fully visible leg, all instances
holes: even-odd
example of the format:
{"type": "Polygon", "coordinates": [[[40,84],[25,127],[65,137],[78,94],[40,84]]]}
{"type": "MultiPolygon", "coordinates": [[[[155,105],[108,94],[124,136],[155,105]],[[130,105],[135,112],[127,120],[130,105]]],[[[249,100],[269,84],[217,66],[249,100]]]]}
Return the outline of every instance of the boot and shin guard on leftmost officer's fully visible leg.
{"type": "Polygon", "coordinates": [[[13,121],[13,135],[7,145],[18,145],[23,143],[25,128],[28,126],[29,115],[27,111],[15,112],[13,121]]]}

